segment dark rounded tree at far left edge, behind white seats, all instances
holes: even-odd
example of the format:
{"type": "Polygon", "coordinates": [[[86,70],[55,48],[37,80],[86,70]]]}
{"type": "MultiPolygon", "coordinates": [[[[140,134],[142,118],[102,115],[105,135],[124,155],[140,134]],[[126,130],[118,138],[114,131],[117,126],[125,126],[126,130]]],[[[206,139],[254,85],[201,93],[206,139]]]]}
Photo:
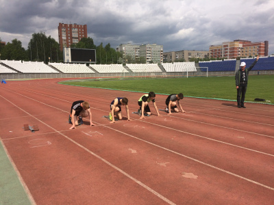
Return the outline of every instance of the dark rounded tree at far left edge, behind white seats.
{"type": "Polygon", "coordinates": [[[1,50],[1,58],[8,60],[24,60],[27,61],[27,53],[22,47],[20,40],[14,39],[12,43],[8,42],[1,50]]]}

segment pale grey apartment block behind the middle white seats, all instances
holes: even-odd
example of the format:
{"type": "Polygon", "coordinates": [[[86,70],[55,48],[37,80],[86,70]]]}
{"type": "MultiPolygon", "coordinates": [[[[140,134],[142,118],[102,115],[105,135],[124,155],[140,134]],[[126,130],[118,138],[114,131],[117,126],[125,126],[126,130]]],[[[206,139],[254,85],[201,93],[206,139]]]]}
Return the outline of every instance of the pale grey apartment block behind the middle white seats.
{"type": "Polygon", "coordinates": [[[118,51],[123,53],[123,59],[126,61],[126,57],[129,55],[135,61],[138,61],[140,57],[143,57],[146,63],[162,63],[163,62],[163,46],[157,44],[120,44],[118,51]]]}

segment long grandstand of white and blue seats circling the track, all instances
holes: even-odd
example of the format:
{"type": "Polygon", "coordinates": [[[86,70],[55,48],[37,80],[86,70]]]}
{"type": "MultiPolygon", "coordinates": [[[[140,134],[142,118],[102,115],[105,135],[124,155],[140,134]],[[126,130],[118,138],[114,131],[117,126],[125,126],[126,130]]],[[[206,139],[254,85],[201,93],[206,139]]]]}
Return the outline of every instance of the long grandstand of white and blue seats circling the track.
{"type": "MultiPolygon", "coordinates": [[[[178,62],[158,64],[62,64],[34,61],[0,62],[0,79],[42,79],[42,78],[82,78],[82,77],[188,77],[188,76],[233,76],[245,61],[247,68],[255,59],[230,59],[224,61],[178,62]],[[196,66],[196,67],[195,67],[196,66]],[[202,67],[208,67],[207,69],[202,67]],[[203,69],[203,70],[202,70],[203,69]]],[[[274,56],[260,57],[250,74],[274,74],[274,56]],[[260,71],[260,72],[258,72],[260,71]]]]}

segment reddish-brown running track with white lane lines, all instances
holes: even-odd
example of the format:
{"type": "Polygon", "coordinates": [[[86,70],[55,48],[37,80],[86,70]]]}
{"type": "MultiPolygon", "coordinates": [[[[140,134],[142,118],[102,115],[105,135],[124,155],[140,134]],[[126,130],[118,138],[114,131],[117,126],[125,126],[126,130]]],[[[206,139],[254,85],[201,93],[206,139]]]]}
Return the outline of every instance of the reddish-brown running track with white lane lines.
{"type": "MultiPolygon", "coordinates": [[[[0,89],[1,142],[33,204],[273,204],[274,106],[184,98],[186,113],[139,120],[140,93],[58,81],[0,89]],[[132,121],[110,124],[101,117],[118,96],[132,121]],[[75,100],[90,102],[96,126],[69,130],[75,100]]],[[[158,109],[165,98],[156,95],[158,109]]]]}

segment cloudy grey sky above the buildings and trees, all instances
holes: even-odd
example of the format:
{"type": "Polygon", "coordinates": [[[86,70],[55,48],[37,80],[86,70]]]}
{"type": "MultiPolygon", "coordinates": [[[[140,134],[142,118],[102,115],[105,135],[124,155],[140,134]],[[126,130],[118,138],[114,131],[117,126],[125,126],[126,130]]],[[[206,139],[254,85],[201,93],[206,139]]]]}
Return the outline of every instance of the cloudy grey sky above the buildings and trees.
{"type": "Polygon", "coordinates": [[[269,41],[274,54],[273,0],[0,0],[0,38],[45,32],[58,42],[58,23],[88,26],[96,45],[162,44],[164,52],[208,51],[237,39],[269,41]]]}

